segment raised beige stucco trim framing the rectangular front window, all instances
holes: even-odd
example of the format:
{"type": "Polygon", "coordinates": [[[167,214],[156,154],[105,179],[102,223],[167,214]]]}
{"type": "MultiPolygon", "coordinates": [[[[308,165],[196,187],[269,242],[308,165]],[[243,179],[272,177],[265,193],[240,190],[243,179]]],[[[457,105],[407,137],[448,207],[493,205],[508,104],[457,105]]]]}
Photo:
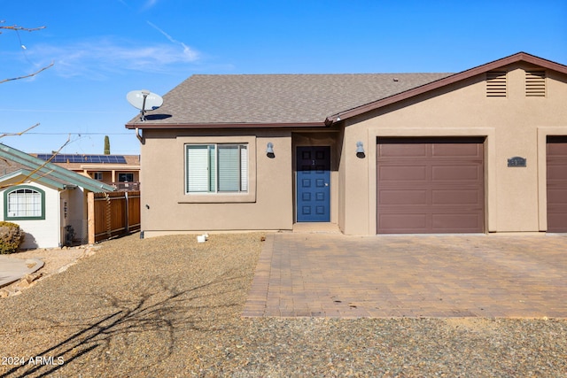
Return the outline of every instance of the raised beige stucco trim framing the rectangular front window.
{"type": "MultiPolygon", "coordinates": [[[[255,203],[256,202],[256,135],[225,135],[225,136],[177,136],[177,146],[183,157],[183,172],[178,181],[178,204],[219,204],[219,203],[255,203]],[[186,188],[188,144],[247,144],[248,150],[248,191],[247,192],[217,192],[189,193],[186,188]]],[[[180,161],[180,162],[182,162],[180,161]]],[[[178,176],[179,177],[179,176],[178,176]]]]}

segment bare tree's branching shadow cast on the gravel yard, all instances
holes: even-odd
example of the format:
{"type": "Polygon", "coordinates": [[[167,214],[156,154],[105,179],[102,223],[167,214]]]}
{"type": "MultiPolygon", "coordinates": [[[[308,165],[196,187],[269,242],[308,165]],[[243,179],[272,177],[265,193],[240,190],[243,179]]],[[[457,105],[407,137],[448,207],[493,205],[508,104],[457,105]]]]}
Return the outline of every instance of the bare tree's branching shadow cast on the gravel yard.
{"type": "MultiPolygon", "coordinates": [[[[217,329],[219,322],[213,325],[204,321],[204,313],[214,312],[216,320],[221,320],[223,316],[229,317],[229,310],[242,304],[230,299],[233,297],[231,294],[239,289],[234,289],[234,286],[228,283],[243,279],[245,276],[227,272],[202,285],[178,289],[156,278],[147,288],[130,292],[128,298],[111,293],[92,294],[91,296],[97,297],[97,302],[101,304],[99,308],[93,308],[93,312],[102,309],[107,312],[105,315],[91,316],[88,319],[81,316],[63,323],[54,318],[42,317],[42,320],[53,325],[51,328],[78,330],[64,340],[35,353],[35,356],[54,356],[54,359],[40,361],[39,364],[14,366],[2,376],[51,376],[78,359],[104,360],[105,354],[110,353],[112,343],[114,346],[120,344],[126,349],[133,348],[133,343],[128,345],[128,342],[124,342],[126,336],[147,336],[153,333],[160,344],[152,345],[152,349],[159,351],[154,356],[145,356],[144,363],[136,366],[140,371],[144,371],[145,367],[156,365],[172,354],[176,332],[217,329]],[[218,304],[218,297],[227,300],[218,304]],[[62,361],[64,362],[61,363],[62,361]]],[[[227,323],[221,323],[220,327],[226,329],[227,323]]]]}

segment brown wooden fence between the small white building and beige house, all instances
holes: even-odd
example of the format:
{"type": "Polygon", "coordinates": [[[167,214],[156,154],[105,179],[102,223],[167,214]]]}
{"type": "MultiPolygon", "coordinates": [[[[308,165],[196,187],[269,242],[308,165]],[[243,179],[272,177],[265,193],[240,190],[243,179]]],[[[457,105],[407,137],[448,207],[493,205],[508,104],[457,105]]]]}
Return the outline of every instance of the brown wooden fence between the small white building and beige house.
{"type": "Polygon", "coordinates": [[[140,192],[88,195],[89,244],[140,229],[140,192]]]}

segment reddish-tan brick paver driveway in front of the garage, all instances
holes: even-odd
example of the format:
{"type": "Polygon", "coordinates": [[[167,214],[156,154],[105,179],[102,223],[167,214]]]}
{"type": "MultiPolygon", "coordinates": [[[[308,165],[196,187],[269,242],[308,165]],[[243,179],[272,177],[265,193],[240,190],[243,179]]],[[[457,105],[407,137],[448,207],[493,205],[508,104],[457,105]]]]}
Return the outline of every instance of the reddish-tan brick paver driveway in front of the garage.
{"type": "Polygon", "coordinates": [[[244,316],[567,317],[565,235],[267,235],[244,316]]]}

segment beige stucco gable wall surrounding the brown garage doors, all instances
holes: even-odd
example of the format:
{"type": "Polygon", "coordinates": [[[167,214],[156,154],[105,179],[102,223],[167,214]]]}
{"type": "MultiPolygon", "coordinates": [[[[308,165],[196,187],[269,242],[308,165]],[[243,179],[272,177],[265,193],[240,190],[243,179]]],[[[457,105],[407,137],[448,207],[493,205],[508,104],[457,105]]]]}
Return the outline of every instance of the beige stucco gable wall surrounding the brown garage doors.
{"type": "Polygon", "coordinates": [[[548,71],[547,96],[526,97],[527,68],[505,67],[504,98],[485,96],[481,74],[347,120],[339,227],[351,235],[376,234],[378,136],[485,136],[486,231],[545,230],[546,136],[567,135],[567,77],[548,71]],[[357,141],[366,158],[355,156],[357,141]],[[527,159],[526,167],[508,167],[517,156],[527,159]]]}

